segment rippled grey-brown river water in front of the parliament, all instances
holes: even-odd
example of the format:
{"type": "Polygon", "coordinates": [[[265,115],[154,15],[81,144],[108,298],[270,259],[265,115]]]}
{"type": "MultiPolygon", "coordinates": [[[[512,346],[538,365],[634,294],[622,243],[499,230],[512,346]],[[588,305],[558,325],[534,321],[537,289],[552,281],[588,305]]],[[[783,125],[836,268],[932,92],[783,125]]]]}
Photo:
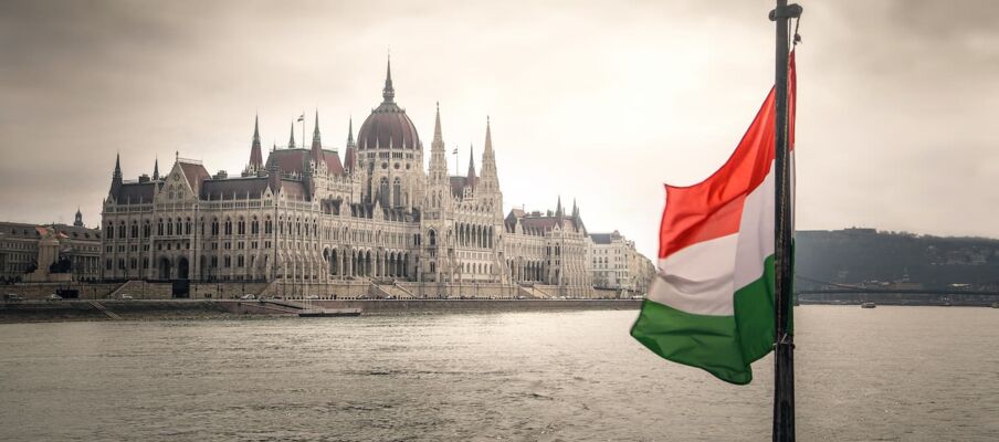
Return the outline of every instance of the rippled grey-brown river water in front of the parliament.
{"type": "MultiPolygon", "coordinates": [[[[634,311],[0,325],[0,440],[768,440],[634,311]]],[[[999,309],[802,306],[806,441],[999,440],[999,309]]]]}

